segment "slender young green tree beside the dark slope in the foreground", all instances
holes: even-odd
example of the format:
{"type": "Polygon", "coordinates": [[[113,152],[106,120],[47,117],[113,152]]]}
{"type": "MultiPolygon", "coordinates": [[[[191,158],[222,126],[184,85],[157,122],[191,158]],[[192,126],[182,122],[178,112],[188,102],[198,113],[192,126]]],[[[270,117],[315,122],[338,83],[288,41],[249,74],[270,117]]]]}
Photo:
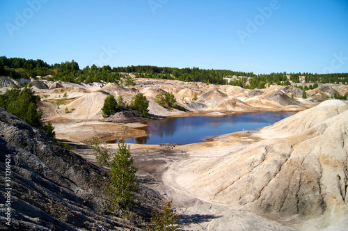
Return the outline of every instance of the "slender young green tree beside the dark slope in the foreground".
{"type": "Polygon", "coordinates": [[[129,145],[125,145],[124,142],[118,143],[118,150],[110,163],[109,180],[106,183],[109,209],[132,205],[134,193],[139,191],[139,183],[135,177],[138,169],[132,166],[133,158],[130,155],[129,145]]]}

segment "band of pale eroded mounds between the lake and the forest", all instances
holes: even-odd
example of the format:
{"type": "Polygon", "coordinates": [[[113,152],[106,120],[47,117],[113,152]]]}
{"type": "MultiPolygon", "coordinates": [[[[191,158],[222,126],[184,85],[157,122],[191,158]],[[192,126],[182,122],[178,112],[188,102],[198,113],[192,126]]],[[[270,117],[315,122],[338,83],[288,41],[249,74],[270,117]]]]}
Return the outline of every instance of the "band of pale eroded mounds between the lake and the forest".
{"type": "MultiPolygon", "coordinates": [[[[33,90],[42,97],[40,108],[45,111],[46,120],[102,120],[100,109],[106,96],[114,95],[117,98],[121,95],[129,103],[139,92],[148,98],[150,116],[155,117],[182,115],[182,111],[159,106],[156,103],[156,95],[159,93],[173,93],[177,103],[187,111],[205,113],[302,111],[326,100],[326,94],[320,90],[308,91],[313,93],[313,99],[311,95],[308,95],[308,99],[302,99],[303,91],[292,86],[248,90],[238,86],[164,79],[135,79],[135,82],[135,86],[119,86],[116,83],[35,81],[33,90]],[[319,93],[322,97],[318,97],[319,93]],[[65,113],[66,110],[68,113],[65,113]]],[[[345,88],[340,87],[340,90],[342,92],[345,88]]]]}

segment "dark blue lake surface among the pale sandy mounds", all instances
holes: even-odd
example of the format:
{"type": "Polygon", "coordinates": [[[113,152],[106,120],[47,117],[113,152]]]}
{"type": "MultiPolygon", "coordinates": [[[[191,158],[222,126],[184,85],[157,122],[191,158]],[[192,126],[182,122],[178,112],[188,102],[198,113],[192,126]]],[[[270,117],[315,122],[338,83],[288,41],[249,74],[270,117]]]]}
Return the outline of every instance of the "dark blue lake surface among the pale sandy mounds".
{"type": "Polygon", "coordinates": [[[226,117],[190,116],[180,118],[165,118],[148,121],[145,131],[148,136],[127,138],[125,143],[197,143],[205,138],[239,132],[257,130],[273,125],[294,113],[242,113],[226,117]]]}

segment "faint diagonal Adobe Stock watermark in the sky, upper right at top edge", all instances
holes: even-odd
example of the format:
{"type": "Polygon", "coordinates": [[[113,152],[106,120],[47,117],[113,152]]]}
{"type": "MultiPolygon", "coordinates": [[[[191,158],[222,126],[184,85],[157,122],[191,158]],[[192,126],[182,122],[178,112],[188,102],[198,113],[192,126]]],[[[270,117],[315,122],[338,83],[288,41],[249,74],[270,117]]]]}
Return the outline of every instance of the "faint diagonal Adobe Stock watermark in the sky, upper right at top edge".
{"type": "Polygon", "coordinates": [[[264,22],[266,22],[266,19],[269,19],[270,17],[272,17],[274,10],[279,10],[279,8],[280,8],[279,1],[271,0],[269,2],[269,6],[266,6],[264,8],[260,8],[260,7],[258,8],[258,11],[260,12],[260,14],[255,15],[253,20],[247,18],[246,22],[248,24],[246,24],[245,31],[241,29],[238,29],[236,31],[238,38],[242,42],[242,44],[244,44],[245,42],[244,40],[246,38],[250,38],[253,33],[256,33],[256,31],[258,31],[260,26],[262,26],[264,22]]]}

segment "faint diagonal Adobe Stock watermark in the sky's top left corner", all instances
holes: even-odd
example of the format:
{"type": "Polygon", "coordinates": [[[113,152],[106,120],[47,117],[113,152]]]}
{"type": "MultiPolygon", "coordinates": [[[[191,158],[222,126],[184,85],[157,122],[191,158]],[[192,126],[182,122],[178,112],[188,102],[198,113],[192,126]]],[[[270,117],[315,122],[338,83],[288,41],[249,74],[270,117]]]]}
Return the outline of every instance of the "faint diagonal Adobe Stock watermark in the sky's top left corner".
{"type": "Polygon", "coordinates": [[[35,13],[41,9],[42,3],[47,3],[49,0],[28,0],[26,3],[28,7],[25,8],[22,13],[15,12],[15,23],[6,22],[5,26],[10,37],[13,37],[15,31],[19,31],[23,26],[26,25],[29,19],[34,17],[35,13]]]}

